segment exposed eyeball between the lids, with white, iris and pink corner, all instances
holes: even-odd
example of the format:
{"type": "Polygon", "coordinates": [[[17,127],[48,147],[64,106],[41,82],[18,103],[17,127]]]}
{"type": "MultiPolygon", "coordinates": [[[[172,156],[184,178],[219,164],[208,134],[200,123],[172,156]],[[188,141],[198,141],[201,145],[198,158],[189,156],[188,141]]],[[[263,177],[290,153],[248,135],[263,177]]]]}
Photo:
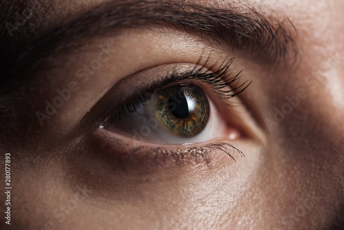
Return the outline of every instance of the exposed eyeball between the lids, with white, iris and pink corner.
{"type": "Polygon", "coordinates": [[[215,105],[201,87],[189,83],[165,87],[114,117],[109,131],[149,143],[203,143],[239,136],[235,129],[224,136],[228,127],[215,105]]]}

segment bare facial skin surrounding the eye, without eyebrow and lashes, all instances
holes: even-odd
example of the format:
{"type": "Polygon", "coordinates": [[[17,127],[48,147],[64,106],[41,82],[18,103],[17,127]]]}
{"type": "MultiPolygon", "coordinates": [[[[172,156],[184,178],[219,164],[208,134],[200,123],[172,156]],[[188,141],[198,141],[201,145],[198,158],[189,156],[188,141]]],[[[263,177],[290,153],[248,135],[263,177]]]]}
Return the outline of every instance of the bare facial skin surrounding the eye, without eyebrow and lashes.
{"type": "MultiPolygon", "coordinates": [[[[85,12],[101,2],[51,1],[45,6],[45,14],[37,15],[41,23],[37,23],[36,30],[67,21],[72,14],[85,12]]],[[[228,2],[204,4],[226,8],[228,2]]],[[[298,65],[288,64],[276,70],[269,63],[251,59],[249,54],[226,50],[221,45],[211,47],[208,41],[167,28],[126,29],[115,37],[93,38],[93,45],[85,45],[86,51],[81,54],[52,56],[52,62],[62,65],[37,72],[25,82],[27,89],[34,90],[17,105],[25,108],[21,116],[26,120],[24,123],[19,119],[16,125],[28,127],[28,134],[14,133],[14,139],[4,140],[1,145],[2,153],[12,154],[13,190],[11,226],[3,221],[0,226],[6,229],[338,227],[344,209],[344,2],[266,0],[245,4],[264,15],[292,21],[301,50],[298,65]],[[101,48],[106,47],[111,48],[107,61],[79,85],[56,114],[39,125],[35,112],[44,111],[45,101],[53,101],[56,90],[69,87],[72,81],[80,82],[75,76],[78,68],[91,63],[99,57],[101,48]],[[226,154],[214,151],[210,154],[211,167],[186,160],[179,166],[167,163],[147,167],[136,162],[123,169],[107,152],[111,147],[99,144],[96,136],[69,138],[83,116],[111,87],[120,87],[118,94],[125,97],[140,81],[149,81],[149,76],[153,76],[144,74],[140,80],[137,74],[140,70],[168,63],[197,63],[202,54],[212,54],[214,60],[236,55],[231,70],[244,70],[242,81],[252,81],[241,98],[233,98],[249,102],[230,110],[237,114],[236,118],[221,108],[215,115],[222,122],[237,119],[239,128],[231,127],[219,136],[229,139],[229,134],[234,133],[237,138],[232,143],[245,157],[236,153],[234,162],[226,154]],[[125,81],[127,76],[132,79],[125,81]],[[286,96],[298,103],[289,106],[286,96]],[[28,105],[26,101],[32,103],[28,105]],[[277,110],[287,107],[292,108],[291,112],[285,112],[280,119],[274,118],[277,110]],[[87,190],[81,189],[82,194],[80,187],[87,190]],[[56,217],[55,210],[64,214],[56,217]]],[[[211,134],[205,139],[211,140],[211,134]]],[[[112,148],[112,154],[120,151],[117,146],[112,148]]],[[[6,200],[3,194],[1,200],[6,200]]],[[[5,208],[2,204],[1,210],[5,208]]]]}

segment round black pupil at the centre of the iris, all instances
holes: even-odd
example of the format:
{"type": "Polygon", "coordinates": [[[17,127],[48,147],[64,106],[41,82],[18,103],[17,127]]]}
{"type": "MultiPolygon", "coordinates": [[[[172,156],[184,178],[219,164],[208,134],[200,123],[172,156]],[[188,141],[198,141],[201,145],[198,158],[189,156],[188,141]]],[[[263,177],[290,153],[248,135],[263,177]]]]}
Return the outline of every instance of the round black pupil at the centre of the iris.
{"type": "Polygon", "coordinates": [[[189,100],[184,94],[171,96],[169,99],[169,109],[178,118],[186,118],[192,112],[192,106],[189,108],[189,100]]]}

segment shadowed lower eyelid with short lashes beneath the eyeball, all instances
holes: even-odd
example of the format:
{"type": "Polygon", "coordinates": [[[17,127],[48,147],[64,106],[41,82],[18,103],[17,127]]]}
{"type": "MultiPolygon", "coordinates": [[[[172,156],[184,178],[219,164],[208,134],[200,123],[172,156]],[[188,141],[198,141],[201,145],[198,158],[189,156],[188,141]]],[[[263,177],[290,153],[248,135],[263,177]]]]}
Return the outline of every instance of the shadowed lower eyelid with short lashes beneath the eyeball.
{"type": "MultiPolygon", "coordinates": [[[[202,145],[175,145],[163,147],[145,145],[138,140],[122,140],[109,136],[105,130],[98,130],[87,141],[111,165],[133,173],[153,171],[158,168],[205,165],[211,167],[214,160],[226,158],[235,163],[244,154],[228,140],[202,145]]],[[[223,161],[223,160],[220,160],[223,161]]]]}

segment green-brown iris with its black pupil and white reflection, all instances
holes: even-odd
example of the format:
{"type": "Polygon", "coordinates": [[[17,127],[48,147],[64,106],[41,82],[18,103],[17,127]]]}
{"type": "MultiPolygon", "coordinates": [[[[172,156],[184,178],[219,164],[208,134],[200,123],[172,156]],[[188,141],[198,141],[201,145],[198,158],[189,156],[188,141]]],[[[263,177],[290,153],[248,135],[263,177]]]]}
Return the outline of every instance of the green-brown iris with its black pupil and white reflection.
{"type": "Polygon", "coordinates": [[[181,84],[158,92],[155,114],[167,130],[179,136],[200,133],[209,118],[209,103],[196,85],[181,84]]]}

